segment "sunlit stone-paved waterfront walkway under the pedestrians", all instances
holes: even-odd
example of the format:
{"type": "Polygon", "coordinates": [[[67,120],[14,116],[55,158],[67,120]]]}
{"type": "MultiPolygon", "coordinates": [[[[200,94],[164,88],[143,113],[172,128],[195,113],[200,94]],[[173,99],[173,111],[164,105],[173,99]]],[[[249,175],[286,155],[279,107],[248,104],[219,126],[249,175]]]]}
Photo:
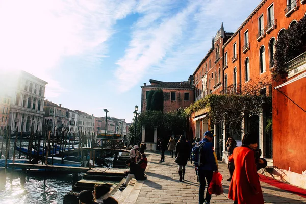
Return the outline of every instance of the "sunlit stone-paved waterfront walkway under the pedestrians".
{"type": "MultiPolygon", "coordinates": [[[[167,152],[166,152],[167,154],[167,152]]],[[[165,156],[165,162],[158,163],[159,153],[150,153],[146,168],[147,180],[132,179],[125,190],[118,191],[114,197],[120,204],[125,203],[198,203],[199,183],[196,181],[194,166],[188,162],[185,180],[179,182],[178,165],[174,158],[165,156]]],[[[233,203],[228,199],[230,173],[227,165],[219,162],[219,172],[223,176],[224,194],[212,195],[211,203],[233,203]]],[[[306,199],[289,193],[267,183],[261,182],[265,203],[306,203],[306,199]]]]}

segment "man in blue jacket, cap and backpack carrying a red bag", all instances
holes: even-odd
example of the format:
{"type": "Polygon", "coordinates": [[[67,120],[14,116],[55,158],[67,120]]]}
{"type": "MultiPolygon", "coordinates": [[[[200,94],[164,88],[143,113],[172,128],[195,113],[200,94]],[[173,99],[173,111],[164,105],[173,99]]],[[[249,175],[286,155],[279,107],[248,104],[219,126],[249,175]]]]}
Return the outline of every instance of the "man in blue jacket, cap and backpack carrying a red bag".
{"type": "Polygon", "coordinates": [[[214,150],[213,150],[214,146],[212,143],[214,136],[215,135],[212,134],[211,131],[206,131],[203,135],[204,137],[203,140],[198,143],[198,144],[205,143],[202,145],[201,157],[199,161],[203,165],[200,165],[197,169],[199,182],[200,182],[199,204],[210,203],[212,195],[208,192],[208,189],[206,190],[206,195],[204,199],[205,184],[207,182],[207,186],[209,187],[209,184],[213,178],[213,172],[218,172],[218,166],[215,160],[214,150]]]}

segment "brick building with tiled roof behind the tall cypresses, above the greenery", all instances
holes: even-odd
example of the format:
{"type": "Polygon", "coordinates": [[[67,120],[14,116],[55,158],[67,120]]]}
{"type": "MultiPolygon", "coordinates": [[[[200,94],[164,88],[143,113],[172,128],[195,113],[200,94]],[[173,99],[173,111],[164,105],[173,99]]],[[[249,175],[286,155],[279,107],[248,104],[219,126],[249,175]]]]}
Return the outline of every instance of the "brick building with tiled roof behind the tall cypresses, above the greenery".
{"type": "Polygon", "coordinates": [[[194,102],[194,88],[189,82],[162,82],[150,80],[151,85],[141,86],[141,112],[146,110],[146,97],[150,90],[162,89],[164,112],[176,111],[194,102]]]}

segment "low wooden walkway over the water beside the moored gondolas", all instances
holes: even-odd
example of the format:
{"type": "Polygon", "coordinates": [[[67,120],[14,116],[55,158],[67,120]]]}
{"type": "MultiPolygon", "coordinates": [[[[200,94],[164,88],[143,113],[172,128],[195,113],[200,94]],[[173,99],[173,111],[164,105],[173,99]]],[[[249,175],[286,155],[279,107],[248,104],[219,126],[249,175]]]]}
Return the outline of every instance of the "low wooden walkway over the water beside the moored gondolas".
{"type": "Polygon", "coordinates": [[[17,164],[17,163],[9,163],[9,167],[12,168],[20,168],[20,169],[46,169],[46,170],[54,170],[54,171],[69,171],[71,173],[82,173],[90,170],[85,167],[71,167],[71,166],[56,166],[49,164],[17,164]]]}

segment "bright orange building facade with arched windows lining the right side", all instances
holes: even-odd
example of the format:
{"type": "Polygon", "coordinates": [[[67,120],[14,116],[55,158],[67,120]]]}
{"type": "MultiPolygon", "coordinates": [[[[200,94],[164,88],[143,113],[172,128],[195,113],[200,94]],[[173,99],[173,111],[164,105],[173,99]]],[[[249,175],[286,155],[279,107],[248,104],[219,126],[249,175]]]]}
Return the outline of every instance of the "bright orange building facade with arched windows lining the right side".
{"type": "MultiPolygon", "coordinates": [[[[224,31],[222,23],[221,29],[213,37],[212,47],[193,73],[195,101],[207,94],[246,93],[252,89],[256,89],[258,94],[273,97],[273,111],[263,103],[258,115],[245,116],[242,122],[244,130],[241,133],[229,135],[226,124],[216,124],[213,127],[218,159],[227,162],[225,143],[229,136],[241,140],[245,132],[256,131],[259,148],[263,152],[262,157],[267,159],[268,165],[299,175],[302,172],[306,174],[306,162],[298,153],[303,149],[303,142],[306,142],[305,137],[301,136],[306,128],[300,122],[305,118],[305,112],[274,89],[280,84],[272,83],[270,72],[274,66],[274,44],[284,29],[288,29],[306,15],[305,2],[304,0],[263,0],[235,33],[224,31]],[[258,86],[259,84],[261,86],[258,86]],[[266,122],[272,116],[273,131],[267,133],[266,122]],[[250,128],[249,121],[256,121],[258,126],[255,129],[250,128]],[[295,127],[294,130],[292,127],[295,127]],[[298,141],[297,138],[291,137],[292,134],[300,135],[298,141]]],[[[305,67],[305,65],[300,66],[305,67]]],[[[299,68],[299,74],[302,73],[299,68]]],[[[297,104],[303,106],[306,96],[299,93],[306,90],[305,82],[302,78],[281,89],[289,97],[295,98],[297,104]]],[[[303,107],[306,110],[306,107],[303,107]]],[[[200,138],[205,131],[211,129],[206,110],[193,113],[190,117],[190,129],[193,136],[200,138]]],[[[306,187],[306,179],[303,180],[306,187]]]]}

